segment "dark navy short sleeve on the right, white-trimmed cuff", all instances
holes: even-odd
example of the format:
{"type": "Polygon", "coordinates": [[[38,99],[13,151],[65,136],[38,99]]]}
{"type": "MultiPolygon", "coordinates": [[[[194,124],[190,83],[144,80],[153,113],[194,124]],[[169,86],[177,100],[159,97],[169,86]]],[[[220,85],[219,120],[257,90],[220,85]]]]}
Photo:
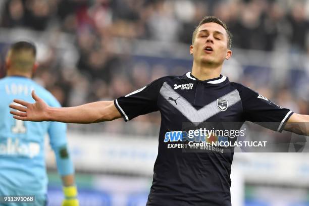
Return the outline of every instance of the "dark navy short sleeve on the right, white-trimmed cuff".
{"type": "Polygon", "coordinates": [[[238,87],[244,121],[258,123],[263,127],[281,132],[292,111],[282,108],[262,94],[240,85],[238,87]],[[267,124],[270,123],[270,124],[267,124]]]}

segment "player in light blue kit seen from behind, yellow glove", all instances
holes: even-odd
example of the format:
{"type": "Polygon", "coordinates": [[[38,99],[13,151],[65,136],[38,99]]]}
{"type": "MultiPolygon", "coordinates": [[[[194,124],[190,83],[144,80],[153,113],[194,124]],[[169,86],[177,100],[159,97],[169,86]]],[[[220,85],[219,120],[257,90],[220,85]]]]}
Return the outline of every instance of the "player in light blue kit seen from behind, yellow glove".
{"type": "MultiPolygon", "coordinates": [[[[48,133],[55,151],[58,172],[62,177],[65,199],[62,205],[77,206],[77,189],[74,168],[69,156],[66,124],[60,122],[27,122],[8,115],[14,98],[31,101],[31,91],[36,90],[50,107],[61,107],[46,89],[31,80],[36,70],[36,47],[33,43],[19,41],[9,49],[7,77],[0,80],[0,196],[34,195],[35,203],[46,205],[47,175],[44,161],[44,138],[48,133]]],[[[17,105],[17,104],[16,104],[17,105]]],[[[0,205],[29,205],[6,203],[0,205]]]]}

